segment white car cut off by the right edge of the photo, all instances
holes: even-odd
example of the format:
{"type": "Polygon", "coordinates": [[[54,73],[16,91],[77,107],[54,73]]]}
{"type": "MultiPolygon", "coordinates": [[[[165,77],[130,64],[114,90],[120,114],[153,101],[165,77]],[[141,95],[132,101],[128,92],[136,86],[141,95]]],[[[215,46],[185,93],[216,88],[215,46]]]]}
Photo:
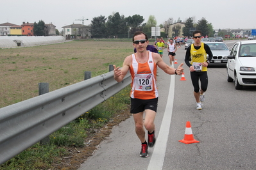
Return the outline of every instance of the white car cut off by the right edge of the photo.
{"type": "Polygon", "coordinates": [[[235,89],[256,86],[256,40],[237,42],[226,64],[227,81],[235,81],[235,89]]]}

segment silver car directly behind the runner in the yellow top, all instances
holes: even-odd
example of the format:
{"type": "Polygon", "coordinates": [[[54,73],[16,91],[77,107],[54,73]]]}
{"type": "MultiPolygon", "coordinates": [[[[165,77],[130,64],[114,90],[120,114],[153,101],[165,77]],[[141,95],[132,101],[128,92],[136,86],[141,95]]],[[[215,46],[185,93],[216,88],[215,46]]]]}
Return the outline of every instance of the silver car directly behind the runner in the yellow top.
{"type": "MultiPolygon", "coordinates": [[[[209,65],[226,65],[230,50],[223,42],[204,42],[212,50],[213,58],[209,65]]],[[[208,55],[207,55],[208,57],[208,55]]]]}

